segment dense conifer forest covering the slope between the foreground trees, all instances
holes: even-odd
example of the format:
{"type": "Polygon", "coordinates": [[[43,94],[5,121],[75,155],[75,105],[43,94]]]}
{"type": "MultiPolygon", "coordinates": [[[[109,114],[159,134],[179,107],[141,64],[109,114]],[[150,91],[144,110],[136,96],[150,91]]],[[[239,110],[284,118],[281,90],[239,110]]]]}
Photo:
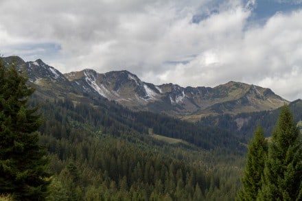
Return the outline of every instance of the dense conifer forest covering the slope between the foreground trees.
{"type": "Polygon", "coordinates": [[[108,114],[68,100],[45,102],[41,110],[40,141],[54,172],[49,200],[233,200],[240,187],[243,154],[235,146],[233,151],[232,143],[220,148],[167,143],[154,139],[146,127],[157,117],[163,125],[178,124],[178,131],[191,126],[191,133],[202,134],[191,123],[130,111],[124,116],[137,115],[145,123],[121,123],[112,116],[125,108],[108,114]]]}

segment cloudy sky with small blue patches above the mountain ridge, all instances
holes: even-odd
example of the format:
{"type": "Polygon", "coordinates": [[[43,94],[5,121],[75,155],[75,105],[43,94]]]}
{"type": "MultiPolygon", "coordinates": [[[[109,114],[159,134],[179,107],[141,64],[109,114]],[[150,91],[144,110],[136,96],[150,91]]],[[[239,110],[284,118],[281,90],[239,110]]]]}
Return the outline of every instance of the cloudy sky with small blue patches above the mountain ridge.
{"type": "Polygon", "coordinates": [[[302,98],[302,0],[0,0],[0,54],[302,98]]]}

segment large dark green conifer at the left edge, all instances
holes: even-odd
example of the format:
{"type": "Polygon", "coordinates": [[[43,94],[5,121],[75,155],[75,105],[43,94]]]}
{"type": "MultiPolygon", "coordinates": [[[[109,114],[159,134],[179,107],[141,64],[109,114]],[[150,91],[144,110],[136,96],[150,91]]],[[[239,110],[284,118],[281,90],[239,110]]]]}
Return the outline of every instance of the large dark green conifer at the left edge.
{"type": "Polygon", "coordinates": [[[48,158],[38,145],[36,130],[42,121],[37,108],[27,107],[34,90],[26,82],[16,67],[0,60],[0,194],[44,200],[48,158]]]}

